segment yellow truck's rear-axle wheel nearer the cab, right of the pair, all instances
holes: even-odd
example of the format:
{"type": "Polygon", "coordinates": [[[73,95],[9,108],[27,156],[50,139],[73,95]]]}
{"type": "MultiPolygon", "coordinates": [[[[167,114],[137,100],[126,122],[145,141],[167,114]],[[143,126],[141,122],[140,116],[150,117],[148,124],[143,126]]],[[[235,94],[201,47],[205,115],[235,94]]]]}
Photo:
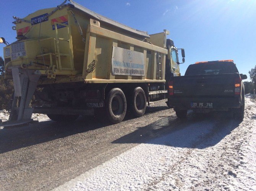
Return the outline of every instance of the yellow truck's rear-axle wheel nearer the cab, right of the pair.
{"type": "Polygon", "coordinates": [[[136,117],[144,115],[147,107],[147,100],[144,90],[141,87],[137,87],[133,91],[132,97],[132,112],[136,117]]]}

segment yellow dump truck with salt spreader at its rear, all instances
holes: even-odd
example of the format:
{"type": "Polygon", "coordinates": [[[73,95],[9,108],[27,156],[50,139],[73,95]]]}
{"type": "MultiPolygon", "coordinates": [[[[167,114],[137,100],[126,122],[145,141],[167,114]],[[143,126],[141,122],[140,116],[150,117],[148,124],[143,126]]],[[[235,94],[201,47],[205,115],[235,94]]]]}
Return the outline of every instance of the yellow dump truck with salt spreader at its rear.
{"type": "Polygon", "coordinates": [[[28,123],[32,113],[55,121],[103,115],[119,123],[126,110],[139,117],[147,105],[166,101],[166,80],[180,75],[168,30],[148,35],[73,0],[13,18],[17,41],[0,39],[4,78],[14,83],[3,126],[28,123]]]}

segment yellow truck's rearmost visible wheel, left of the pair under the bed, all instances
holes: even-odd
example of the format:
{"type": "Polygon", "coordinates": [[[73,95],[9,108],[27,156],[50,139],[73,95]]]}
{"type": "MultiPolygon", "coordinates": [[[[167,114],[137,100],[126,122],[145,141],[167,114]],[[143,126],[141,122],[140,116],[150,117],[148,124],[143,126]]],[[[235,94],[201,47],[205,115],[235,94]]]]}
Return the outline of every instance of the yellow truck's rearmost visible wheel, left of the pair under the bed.
{"type": "Polygon", "coordinates": [[[126,114],[125,94],[120,88],[113,88],[107,95],[106,111],[109,121],[112,123],[120,123],[126,114]]]}

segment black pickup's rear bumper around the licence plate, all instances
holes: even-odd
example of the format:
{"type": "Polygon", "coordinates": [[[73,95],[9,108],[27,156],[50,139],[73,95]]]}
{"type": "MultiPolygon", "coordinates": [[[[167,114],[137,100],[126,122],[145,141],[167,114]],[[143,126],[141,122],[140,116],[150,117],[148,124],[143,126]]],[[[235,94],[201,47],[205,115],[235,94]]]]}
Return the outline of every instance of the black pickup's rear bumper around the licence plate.
{"type": "Polygon", "coordinates": [[[204,107],[210,110],[224,110],[227,108],[241,107],[240,97],[173,97],[168,99],[170,107],[176,107],[181,110],[192,110],[200,108],[192,107],[191,102],[194,103],[212,103],[212,107],[204,107]]]}

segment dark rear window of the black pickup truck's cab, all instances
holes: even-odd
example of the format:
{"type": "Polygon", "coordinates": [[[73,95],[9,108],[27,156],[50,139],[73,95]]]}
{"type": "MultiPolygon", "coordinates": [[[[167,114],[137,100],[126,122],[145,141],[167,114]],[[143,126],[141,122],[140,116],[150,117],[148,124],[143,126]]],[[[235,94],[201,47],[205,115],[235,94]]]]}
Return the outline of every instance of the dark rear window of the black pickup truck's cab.
{"type": "Polygon", "coordinates": [[[186,70],[185,76],[188,75],[204,75],[204,74],[223,74],[223,73],[238,73],[237,67],[234,63],[202,63],[191,64],[186,70]]]}

